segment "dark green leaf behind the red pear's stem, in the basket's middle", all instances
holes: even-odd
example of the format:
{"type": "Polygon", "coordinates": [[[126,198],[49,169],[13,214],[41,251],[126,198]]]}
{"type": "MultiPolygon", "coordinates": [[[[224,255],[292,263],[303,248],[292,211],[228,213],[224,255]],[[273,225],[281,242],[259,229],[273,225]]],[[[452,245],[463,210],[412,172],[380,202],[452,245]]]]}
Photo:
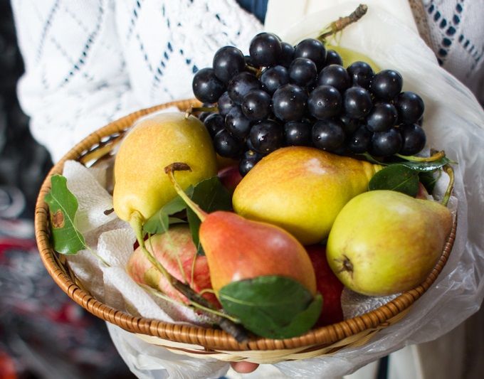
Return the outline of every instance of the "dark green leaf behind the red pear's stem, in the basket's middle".
{"type": "MultiPolygon", "coordinates": [[[[230,193],[222,185],[217,176],[205,179],[196,183],[193,194],[190,196],[194,203],[205,212],[211,213],[215,210],[231,210],[232,199],[230,193]]],[[[190,208],[186,208],[186,218],[190,225],[191,237],[196,247],[199,247],[199,229],[201,221],[199,217],[190,208]]]]}

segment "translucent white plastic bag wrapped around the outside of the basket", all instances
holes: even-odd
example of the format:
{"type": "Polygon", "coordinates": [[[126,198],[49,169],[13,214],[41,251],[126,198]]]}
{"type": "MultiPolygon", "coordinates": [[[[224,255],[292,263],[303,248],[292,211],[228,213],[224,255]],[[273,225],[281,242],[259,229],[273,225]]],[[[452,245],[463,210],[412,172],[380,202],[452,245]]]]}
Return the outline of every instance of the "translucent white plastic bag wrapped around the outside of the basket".
{"type": "MultiPolygon", "coordinates": [[[[357,5],[348,3],[312,14],[280,36],[290,43],[317,36],[322,27],[351,13],[357,5]]],[[[484,296],[482,108],[461,82],[438,66],[435,55],[414,30],[377,6],[342,33],[340,44],[368,55],[382,68],[398,70],[404,78],[404,90],[423,97],[428,144],[444,149],[449,158],[458,161],[454,191],[458,198],[457,236],[443,272],[404,319],[377,333],[363,347],[275,365],[292,378],[345,375],[407,344],[431,341],[478,311],[484,296]]],[[[121,356],[140,378],[206,378],[209,373],[222,375],[228,369],[226,363],[174,356],[163,348],[146,346],[112,326],[110,331],[121,356]]],[[[263,377],[263,368],[260,370],[263,377]]]]}

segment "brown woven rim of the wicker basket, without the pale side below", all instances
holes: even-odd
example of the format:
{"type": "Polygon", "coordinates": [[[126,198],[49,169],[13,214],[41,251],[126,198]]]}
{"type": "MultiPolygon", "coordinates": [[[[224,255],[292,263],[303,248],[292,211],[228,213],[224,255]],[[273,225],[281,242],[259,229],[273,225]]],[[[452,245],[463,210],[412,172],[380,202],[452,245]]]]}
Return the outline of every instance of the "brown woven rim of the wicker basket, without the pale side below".
{"type": "Polygon", "coordinates": [[[273,340],[270,338],[252,338],[246,343],[238,343],[228,333],[219,329],[203,328],[201,326],[187,326],[184,324],[169,324],[155,319],[132,316],[123,311],[114,309],[107,304],[103,304],[98,299],[95,299],[91,294],[85,292],[84,289],[76,284],[73,277],[70,277],[64,269],[61,269],[61,265],[65,263],[62,262],[65,261],[65,257],[55,252],[50,242],[50,229],[48,226],[50,220],[48,215],[48,205],[45,203],[44,197],[51,188],[51,176],[54,174],[62,174],[63,164],[65,161],[70,159],[80,159],[80,157],[83,156],[86,151],[89,151],[92,146],[99,144],[100,141],[105,137],[125,131],[136,119],[157,110],[162,110],[172,106],[179,107],[180,110],[186,110],[191,105],[196,103],[196,100],[192,99],[168,102],[162,105],[145,108],[137,112],[132,112],[131,114],[127,114],[125,117],[107,124],[105,127],[93,132],[88,137],[83,139],[83,141],[79,142],[72,149],[70,149],[70,151],[68,151],[68,153],[65,154],[65,156],[63,156],[63,158],[53,166],[43,181],[37,198],[34,221],[38,250],[41,255],[43,265],[46,267],[53,280],[77,304],[83,306],[84,309],[89,311],[91,314],[98,316],[100,319],[120,326],[122,329],[132,333],[159,337],[180,343],[192,343],[212,350],[274,351],[301,347],[314,348],[315,346],[327,346],[367,329],[385,326],[390,319],[408,309],[411,304],[414,304],[414,301],[419,299],[419,297],[421,297],[421,295],[426,292],[428,287],[430,287],[435,281],[451,253],[453,242],[456,237],[457,218],[453,222],[453,228],[448,236],[448,239],[446,240],[441,257],[439,258],[432,272],[422,284],[414,289],[403,292],[395,299],[382,306],[379,306],[377,309],[374,309],[367,314],[340,321],[337,324],[312,329],[304,335],[294,338],[285,338],[281,340],[273,340]]]}

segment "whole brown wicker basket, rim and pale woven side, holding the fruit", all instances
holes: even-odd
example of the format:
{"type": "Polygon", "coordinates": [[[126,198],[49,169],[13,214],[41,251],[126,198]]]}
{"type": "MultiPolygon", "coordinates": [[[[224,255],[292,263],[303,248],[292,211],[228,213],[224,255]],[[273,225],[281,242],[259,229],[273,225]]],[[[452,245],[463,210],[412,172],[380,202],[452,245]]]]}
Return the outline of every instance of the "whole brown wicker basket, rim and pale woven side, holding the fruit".
{"type": "Polygon", "coordinates": [[[85,162],[93,156],[102,156],[112,148],[132,123],[139,117],[166,107],[177,106],[186,110],[194,100],[171,102],[122,117],[97,132],[90,134],[77,144],[58,162],[43,182],[38,195],[35,215],[35,230],[38,249],[49,274],[68,296],[90,313],[105,321],[135,333],[148,343],[164,346],[170,351],[196,358],[216,358],[221,361],[251,361],[254,363],[276,363],[335,353],[347,346],[362,346],[379,330],[396,323],[405,316],[409,307],[426,292],[446,264],[455,239],[456,222],[446,241],[440,260],[431,274],[418,287],[404,292],[396,299],[362,316],[347,319],[337,324],[324,326],[295,338],[273,340],[253,338],[238,343],[228,333],[219,329],[198,326],[167,324],[154,319],[131,316],[123,311],[102,304],[85,291],[70,270],[63,255],[53,250],[50,240],[48,205],[44,201],[50,190],[51,176],[61,174],[63,163],[74,159],[85,162]]]}

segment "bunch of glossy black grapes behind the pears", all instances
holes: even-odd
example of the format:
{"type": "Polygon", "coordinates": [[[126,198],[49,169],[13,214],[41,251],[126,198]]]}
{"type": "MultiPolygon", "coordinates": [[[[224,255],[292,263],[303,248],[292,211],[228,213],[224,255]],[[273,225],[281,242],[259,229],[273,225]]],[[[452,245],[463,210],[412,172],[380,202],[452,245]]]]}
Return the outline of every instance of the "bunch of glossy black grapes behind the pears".
{"type": "Polygon", "coordinates": [[[259,33],[244,56],[233,46],[194,75],[195,97],[218,112],[204,112],[216,152],[239,160],[247,172],[283,146],[314,146],[335,154],[386,157],[423,149],[423,101],[401,92],[395,70],[374,73],[369,64],[348,68],[317,39],[296,46],[259,33]]]}

